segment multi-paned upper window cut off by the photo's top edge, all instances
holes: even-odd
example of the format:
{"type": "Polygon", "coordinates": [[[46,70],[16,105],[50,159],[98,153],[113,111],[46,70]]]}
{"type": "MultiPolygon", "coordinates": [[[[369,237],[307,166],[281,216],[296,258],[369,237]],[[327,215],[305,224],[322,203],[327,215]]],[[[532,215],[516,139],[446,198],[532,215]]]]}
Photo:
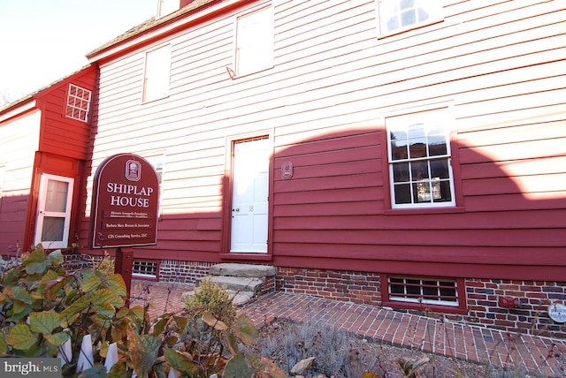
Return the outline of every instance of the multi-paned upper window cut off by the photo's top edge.
{"type": "Polygon", "coordinates": [[[441,0],[379,0],[378,11],[381,35],[442,20],[441,0]]]}

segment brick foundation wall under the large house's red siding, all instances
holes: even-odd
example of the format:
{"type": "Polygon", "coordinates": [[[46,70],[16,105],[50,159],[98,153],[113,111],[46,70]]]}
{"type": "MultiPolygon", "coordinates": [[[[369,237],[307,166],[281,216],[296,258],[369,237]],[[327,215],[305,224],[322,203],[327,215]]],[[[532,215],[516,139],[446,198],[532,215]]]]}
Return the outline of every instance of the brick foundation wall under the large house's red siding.
{"type": "MultiPolygon", "coordinates": [[[[85,254],[65,255],[65,267],[68,270],[91,267],[92,261],[91,256],[85,254]]],[[[195,283],[209,274],[212,265],[210,262],[162,260],[159,281],[195,283]]],[[[467,278],[464,285],[467,314],[399,311],[509,332],[566,338],[566,323],[553,321],[547,312],[552,303],[566,302],[566,282],[467,278]],[[501,306],[501,298],[518,300],[511,301],[511,306],[501,306]],[[517,304],[518,307],[513,307],[517,304]]],[[[379,273],[278,267],[275,277],[264,279],[262,294],[271,291],[306,294],[368,306],[383,304],[379,273]]]]}

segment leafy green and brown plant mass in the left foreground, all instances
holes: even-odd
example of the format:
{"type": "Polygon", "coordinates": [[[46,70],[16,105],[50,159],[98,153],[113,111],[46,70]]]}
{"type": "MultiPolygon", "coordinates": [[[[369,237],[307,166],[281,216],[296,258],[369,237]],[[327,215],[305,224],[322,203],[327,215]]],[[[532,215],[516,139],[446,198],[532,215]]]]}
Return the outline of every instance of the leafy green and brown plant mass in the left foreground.
{"type": "Polygon", "coordinates": [[[47,254],[36,246],[1,276],[0,355],[54,357],[70,340],[64,376],[165,377],[172,368],[190,377],[284,376],[268,359],[241,352],[257,335],[244,315],[201,306],[198,316],[189,309],[152,322],[142,306],[126,306],[122,276],[96,268],[67,274],[63,261],[61,251],[47,254]],[[92,337],[93,366],[77,374],[86,335],[92,337]],[[107,374],[103,361],[112,343],[119,361],[107,374]]]}

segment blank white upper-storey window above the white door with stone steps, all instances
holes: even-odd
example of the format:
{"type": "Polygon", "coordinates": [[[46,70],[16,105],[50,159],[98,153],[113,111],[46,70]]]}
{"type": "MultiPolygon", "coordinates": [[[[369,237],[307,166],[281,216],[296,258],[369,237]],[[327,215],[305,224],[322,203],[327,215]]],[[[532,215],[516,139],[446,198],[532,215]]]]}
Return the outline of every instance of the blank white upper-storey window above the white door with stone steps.
{"type": "Polygon", "coordinates": [[[236,21],[236,74],[246,75],[273,66],[271,6],[241,15],[236,21]]]}

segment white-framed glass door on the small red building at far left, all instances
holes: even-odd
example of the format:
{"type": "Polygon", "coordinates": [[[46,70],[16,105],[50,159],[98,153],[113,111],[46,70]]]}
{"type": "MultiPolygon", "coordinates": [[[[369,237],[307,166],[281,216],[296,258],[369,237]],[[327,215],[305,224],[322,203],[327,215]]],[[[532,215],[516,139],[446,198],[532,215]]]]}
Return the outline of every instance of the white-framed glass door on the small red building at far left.
{"type": "Polygon", "coordinates": [[[37,200],[34,244],[44,248],[66,248],[71,225],[73,178],[44,173],[37,200]]]}

